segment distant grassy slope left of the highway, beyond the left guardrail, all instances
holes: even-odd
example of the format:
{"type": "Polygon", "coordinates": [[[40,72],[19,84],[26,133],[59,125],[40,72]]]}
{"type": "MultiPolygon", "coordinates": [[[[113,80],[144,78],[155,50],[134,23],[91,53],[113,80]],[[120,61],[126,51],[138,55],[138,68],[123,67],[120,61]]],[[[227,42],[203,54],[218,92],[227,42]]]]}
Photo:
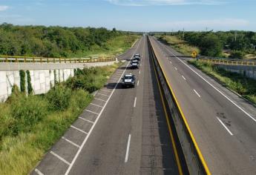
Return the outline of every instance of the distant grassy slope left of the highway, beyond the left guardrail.
{"type": "Polygon", "coordinates": [[[75,53],[68,57],[114,57],[128,50],[139,38],[140,36],[137,35],[116,36],[115,38],[109,39],[105,42],[102,47],[94,45],[91,50],[88,50],[85,53],[75,53]]]}

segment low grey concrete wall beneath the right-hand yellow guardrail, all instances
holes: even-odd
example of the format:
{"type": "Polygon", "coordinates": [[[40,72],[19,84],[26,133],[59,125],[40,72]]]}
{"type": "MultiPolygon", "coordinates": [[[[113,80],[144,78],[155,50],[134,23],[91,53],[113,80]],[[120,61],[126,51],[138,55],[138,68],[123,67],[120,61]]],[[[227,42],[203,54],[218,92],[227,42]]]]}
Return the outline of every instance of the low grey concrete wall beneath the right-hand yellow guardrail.
{"type": "Polygon", "coordinates": [[[248,65],[218,65],[217,67],[221,67],[225,70],[240,73],[243,76],[247,76],[248,78],[256,80],[256,66],[248,66],[248,65]]]}

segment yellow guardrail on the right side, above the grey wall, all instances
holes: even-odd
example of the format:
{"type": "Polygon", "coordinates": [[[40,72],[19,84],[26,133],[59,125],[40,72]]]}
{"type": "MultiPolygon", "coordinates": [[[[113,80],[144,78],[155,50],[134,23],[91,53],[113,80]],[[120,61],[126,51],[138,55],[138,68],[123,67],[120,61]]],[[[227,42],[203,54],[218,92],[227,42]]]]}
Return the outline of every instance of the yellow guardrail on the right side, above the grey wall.
{"type": "Polygon", "coordinates": [[[202,62],[208,62],[213,64],[220,65],[250,65],[256,66],[256,62],[254,60],[240,60],[240,59],[210,59],[206,57],[198,58],[202,62]]]}

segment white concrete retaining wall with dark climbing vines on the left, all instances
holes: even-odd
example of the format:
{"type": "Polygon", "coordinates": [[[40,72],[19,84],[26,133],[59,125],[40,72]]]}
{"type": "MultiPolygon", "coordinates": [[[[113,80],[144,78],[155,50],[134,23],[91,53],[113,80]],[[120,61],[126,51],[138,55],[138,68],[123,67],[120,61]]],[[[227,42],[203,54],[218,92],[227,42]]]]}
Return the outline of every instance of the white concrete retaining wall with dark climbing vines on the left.
{"type": "MultiPolygon", "coordinates": [[[[113,65],[115,62],[95,63],[0,63],[0,102],[4,102],[11,94],[13,85],[20,88],[19,70],[29,70],[34,94],[47,93],[56,81],[63,82],[74,76],[74,69],[113,65]]],[[[26,74],[27,75],[27,74],[26,74]]],[[[27,77],[25,77],[27,90],[27,77]]]]}

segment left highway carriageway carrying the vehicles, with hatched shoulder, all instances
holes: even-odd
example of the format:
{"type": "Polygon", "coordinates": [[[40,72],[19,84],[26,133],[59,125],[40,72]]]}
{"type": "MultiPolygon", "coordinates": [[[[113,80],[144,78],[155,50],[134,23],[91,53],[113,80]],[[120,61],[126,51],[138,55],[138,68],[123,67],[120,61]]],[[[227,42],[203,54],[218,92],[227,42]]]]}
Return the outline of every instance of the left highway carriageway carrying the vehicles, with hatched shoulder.
{"type": "Polygon", "coordinates": [[[118,59],[134,53],[140,69],[119,67],[31,174],[188,174],[145,36],[118,59]],[[122,87],[125,73],[136,87],[122,87]]]}

